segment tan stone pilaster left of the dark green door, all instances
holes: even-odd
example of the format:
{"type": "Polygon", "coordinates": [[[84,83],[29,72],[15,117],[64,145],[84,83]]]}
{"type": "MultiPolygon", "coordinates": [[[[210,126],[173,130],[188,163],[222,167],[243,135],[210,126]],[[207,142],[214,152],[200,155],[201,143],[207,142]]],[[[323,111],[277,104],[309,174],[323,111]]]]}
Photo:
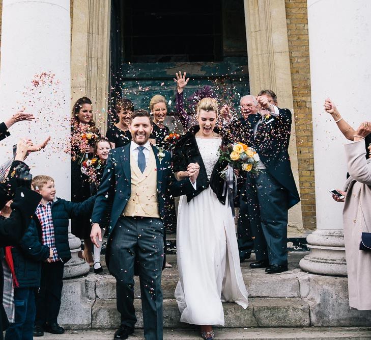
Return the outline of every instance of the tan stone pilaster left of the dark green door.
{"type": "Polygon", "coordinates": [[[107,0],[73,2],[71,106],[78,98],[89,97],[103,136],[107,128],[110,11],[107,0]]]}

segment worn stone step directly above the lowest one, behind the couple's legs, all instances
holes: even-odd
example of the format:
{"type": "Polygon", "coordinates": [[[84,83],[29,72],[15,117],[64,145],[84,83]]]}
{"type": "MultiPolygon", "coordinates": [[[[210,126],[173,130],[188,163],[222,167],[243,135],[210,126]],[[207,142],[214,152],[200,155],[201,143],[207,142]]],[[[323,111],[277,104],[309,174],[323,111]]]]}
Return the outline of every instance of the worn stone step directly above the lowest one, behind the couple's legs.
{"type": "MultiPolygon", "coordinates": [[[[134,301],[137,328],[143,327],[141,301],[134,301]]],[[[223,303],[226,328],[236,327],[307,327],[310,325],[309,305],[301,298],[250,298],[243,309],[236,303],[223,303]]],[[[115,328],[120,315],[115,299],[97,299],[92,307],[92,328],[115,328]]],[[[163,300],[164,327],[192,327],[180,322],[175,299],[163,300]]],[[[193,326],[194,327],[194,326],[193,326]]]]}

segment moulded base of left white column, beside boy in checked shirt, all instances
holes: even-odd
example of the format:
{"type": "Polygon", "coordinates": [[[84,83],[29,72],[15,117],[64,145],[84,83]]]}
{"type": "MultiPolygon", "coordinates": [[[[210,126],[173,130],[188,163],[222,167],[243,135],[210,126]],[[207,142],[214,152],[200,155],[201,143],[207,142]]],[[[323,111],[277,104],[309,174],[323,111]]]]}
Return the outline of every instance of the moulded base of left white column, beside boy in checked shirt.
{"type": "Polygon", "coordinates": [[[88,274],[90,270],[89,264],[78,257],[78,252],[81,250],[81,240],[69,232],[68,242],[72,257],[65,265],[63,278],[66,279],[88,274]]]}

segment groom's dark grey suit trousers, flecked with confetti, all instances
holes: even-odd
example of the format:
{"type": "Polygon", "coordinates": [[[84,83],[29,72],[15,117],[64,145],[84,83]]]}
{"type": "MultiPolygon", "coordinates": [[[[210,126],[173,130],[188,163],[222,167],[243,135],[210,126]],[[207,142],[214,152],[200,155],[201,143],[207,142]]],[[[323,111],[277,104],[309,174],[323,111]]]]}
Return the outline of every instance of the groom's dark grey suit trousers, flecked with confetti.
{"type": "Polygon", "coordinates": [[[109,271],[116,278],[117,309],[121,314],[121,324],[134,327],[136,323],[136,266],[147,340],[162,339],[163,234],[164,227],[159,218],[122,216],[113,229],[109,246],[109,271]]]}

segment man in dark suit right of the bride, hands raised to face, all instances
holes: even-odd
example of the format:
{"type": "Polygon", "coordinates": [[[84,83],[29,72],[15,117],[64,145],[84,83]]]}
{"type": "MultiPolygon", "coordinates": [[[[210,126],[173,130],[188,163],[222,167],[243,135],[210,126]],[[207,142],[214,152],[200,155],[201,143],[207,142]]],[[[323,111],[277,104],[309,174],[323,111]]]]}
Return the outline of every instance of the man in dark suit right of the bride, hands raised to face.
{"type": "Polygon", "coordinates": [[[254,103],[257,111],[258,103],[261,107],[252,135],[253,147],[260,156],[261,172],[247,176],[245,200],[249,220],[254,221],[251,233],[257,260],[250,267],[280,273],[288,270],[288,210],[300,198],[288,153],[291,112],[278,109],[271,101],[276,103],[276,98],[262,94],[254,103]]]}

